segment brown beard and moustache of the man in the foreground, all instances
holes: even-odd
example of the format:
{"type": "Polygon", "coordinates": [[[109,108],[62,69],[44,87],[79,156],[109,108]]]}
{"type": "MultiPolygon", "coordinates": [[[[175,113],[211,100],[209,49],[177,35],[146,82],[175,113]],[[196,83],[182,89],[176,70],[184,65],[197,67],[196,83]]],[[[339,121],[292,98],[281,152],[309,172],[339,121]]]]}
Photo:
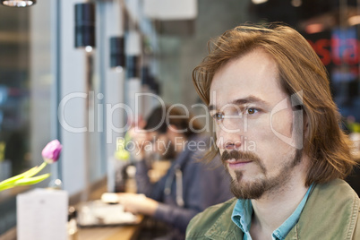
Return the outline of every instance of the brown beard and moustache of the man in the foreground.
{"type": "MultiPolygon", "coordinates": [[[[291,170],[301,162],[302,150],[296,150],[295,156],[292,161],[289,161],[280,169],[277,176],[271,178],[254,179],[253,182],[244,182],[243,171],[235,171],[236,177],[232,179],[230,184],[231,193],[233,193],[238,199],[260,199],[263,193],[275,191],[281,187],[290,178],[291,170]]],[[[221,155],[221,160],[225,165],[227,171],[227,159],[244,159],[250,160],[252,163],[258,165],[261,170],[262,176],[266,176],[267,169],[263,165],[261,159],[253,152],[241,152],[241,151],[225,151],[221,155]]]]}

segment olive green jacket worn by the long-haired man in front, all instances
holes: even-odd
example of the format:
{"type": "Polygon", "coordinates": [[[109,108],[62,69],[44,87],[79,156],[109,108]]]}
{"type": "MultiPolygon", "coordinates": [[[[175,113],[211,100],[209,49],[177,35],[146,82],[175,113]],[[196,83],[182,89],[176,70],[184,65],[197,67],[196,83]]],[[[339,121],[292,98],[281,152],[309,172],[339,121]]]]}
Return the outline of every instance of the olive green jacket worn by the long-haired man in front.
{"type": "MultiPolygon", "coordinates": [[[[243,232],[231,220],[235,204],[233,198],[195,216],[187,227],[186,239],[243,239],[243,232]]],[[[359,207],[359,197],[345,181],[317,184],[286,240],[358,240],[359,207]]]]}

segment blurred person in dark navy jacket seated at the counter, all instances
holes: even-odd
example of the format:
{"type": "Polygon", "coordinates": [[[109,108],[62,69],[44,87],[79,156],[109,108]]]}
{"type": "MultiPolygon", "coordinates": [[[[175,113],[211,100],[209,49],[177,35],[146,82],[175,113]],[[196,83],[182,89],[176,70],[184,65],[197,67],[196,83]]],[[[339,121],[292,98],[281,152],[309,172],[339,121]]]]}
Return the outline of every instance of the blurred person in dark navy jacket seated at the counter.
{"type": "Polygon", "coordinates": [[[138,146],[132,155],[136,161],[137,192],[141,194],[118,193],[118,196],[125,210],[167,224],[164,236],[149,239],[184,239],[193,216],[232,197],[229,176],[219,166],[219,159],[210,164],[200,161],[210,141],[208,136],[196,133],[200,130],[196,119],[186,116],[182,108],[165,106],[150,113],[142,130],[131,130],[132,140],[138,146]],[[165,176],[151,183],[149,158],[154,156],[172,159],[172,163],[165,176]]]}

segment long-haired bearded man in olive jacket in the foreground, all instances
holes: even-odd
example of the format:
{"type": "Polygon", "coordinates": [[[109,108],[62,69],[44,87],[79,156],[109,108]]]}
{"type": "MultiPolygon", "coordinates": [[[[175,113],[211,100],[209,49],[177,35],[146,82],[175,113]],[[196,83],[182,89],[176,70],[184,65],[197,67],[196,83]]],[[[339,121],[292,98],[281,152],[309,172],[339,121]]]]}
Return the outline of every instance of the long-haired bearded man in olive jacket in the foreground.
{"type": "Polygon", "coordinates": [[[192,219],[187,239],[360,239],[360,201],[341,180],[356,161],[326,70],[296,30],[227,30],[193,82],[236,198],[192,219]]]}

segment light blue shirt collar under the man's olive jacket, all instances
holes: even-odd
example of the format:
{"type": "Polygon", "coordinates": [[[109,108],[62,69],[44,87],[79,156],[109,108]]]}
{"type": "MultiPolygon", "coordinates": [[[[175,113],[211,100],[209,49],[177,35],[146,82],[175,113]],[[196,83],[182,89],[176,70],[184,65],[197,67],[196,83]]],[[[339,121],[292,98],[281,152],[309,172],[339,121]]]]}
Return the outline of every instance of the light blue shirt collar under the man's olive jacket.
{"type": "MultiPolygon", "coordinates": [[[[302,201],[300,201],[299,205],[297,205],[296,210],[288,217],[280,227],[278,227],[272,233],[273,240],[283,240],[290,232],[290,230],[296,225],[298,219],[300,218],[300,214],[304,209],[304,205],[309,197],[311,189],[313,188],[313,184],[309,187],[307,192],[304,195],[302,201]]],[[[236,224],[237,227],[244,232],[244,240],[252,240],[250,236],[250,227],[252,223],[252,215],[253,215],[253,204],[249,199],[238,199],[236,201],[235,208],[233,210],[233,214],[231,219],[236,224]]]]}

